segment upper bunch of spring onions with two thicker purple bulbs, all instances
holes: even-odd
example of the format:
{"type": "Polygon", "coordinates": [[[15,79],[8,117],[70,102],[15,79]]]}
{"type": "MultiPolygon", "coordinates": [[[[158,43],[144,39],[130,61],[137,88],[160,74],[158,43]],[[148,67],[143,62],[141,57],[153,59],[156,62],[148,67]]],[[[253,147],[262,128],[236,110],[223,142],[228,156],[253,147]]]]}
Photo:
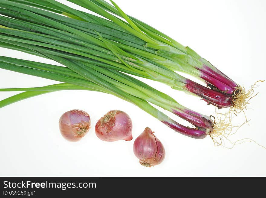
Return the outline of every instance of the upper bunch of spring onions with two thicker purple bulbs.
{"type": "MultiPolygon", "coordinates": [[[[214,68],[207,68],[205,63],[177,49],[177,46],[171,46],[170,41],[161,39],[165,40],[165,43],[162,42],[158,35],[154,36],[142,27],[143,24],[140,26],[148,33],[142,29],[141,31],[140,27],[135,25],[138,22],[134,23],[134,20],[128,18],[117,6],[113,9],[117,9],[116,13],[120,13],[128,23],[119,20],[92,1],[71,2],[89,8],[113,22],[74,10],[54,0],[0,2],[3,8],[0,13],[12,18],[1,18],[1,33],[8,35],[1,35],[3,42],[33,50],[49,48],[47,53],[60,50],[78,55],[79,60],[85,61],[89,58],[97,60],[97,64],[107,63],[116,67],[116,70],[163,82],[174,89],[200,96],[218,108],[237,107],[239,105],[236,104],[243,102],[245,98],[244,93],[239,91],[237,85],[227,76],[217,69],[216,71],[214,68]],[[174,70],[190,73],[208,82],[212,89],[195,83],[174,70]]],[[[61,56],[63,55],[66,56],[61,56]]],[[[73,58],[76,59],[77,56],[73,58]]]]}

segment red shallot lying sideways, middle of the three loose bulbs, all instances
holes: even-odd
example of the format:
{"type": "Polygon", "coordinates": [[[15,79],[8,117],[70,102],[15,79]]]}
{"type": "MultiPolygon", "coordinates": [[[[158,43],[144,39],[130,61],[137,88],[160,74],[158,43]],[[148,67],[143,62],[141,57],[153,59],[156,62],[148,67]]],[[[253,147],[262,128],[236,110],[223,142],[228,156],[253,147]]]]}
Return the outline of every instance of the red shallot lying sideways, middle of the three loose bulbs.
{"type": "Polygon", "coordinates": [[[103,141],[130,141],[133,139],[132,121],[123,111],[109,111],[96,123],[95,133],[103,141]]]}

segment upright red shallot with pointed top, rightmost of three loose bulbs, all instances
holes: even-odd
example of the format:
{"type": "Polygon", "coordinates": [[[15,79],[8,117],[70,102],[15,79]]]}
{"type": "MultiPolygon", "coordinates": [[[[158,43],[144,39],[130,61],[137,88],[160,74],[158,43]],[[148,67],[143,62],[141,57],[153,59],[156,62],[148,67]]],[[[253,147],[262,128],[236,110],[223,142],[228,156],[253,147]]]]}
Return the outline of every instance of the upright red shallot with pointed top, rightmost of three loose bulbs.
{"type": "Polygon", "coordinates": [[[160,164],[165,157],[163,144],[155,137],[150,128],[145,128],[144,132],[138,136],[133,145],[135,156],[139,163],[146,167],[160,164]]]}

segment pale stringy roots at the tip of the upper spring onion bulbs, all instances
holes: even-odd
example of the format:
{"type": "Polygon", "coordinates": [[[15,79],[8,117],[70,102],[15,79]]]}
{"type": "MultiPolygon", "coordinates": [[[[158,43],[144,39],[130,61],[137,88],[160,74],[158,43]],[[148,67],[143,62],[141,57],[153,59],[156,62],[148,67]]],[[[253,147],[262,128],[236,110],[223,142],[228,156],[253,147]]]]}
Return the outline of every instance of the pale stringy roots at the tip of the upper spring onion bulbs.
{"type": "Polygon", "coordinates": [[[254,95],[254,88],[258,87],[257,83],[264,82],[264,81],[265,80],[258,80],[256,83],[254,83],[254,85],[251,86],[251,89],[247,91],[245,90],[244,87],[240,85],[235,87],[235,91],[232,96],[233,105],[231,109],[233,109],[235,112],[238,112],[238,113],[246,109],[247,105],[249,104],[249,101],[258,95],[258,93],[254,95]]]}

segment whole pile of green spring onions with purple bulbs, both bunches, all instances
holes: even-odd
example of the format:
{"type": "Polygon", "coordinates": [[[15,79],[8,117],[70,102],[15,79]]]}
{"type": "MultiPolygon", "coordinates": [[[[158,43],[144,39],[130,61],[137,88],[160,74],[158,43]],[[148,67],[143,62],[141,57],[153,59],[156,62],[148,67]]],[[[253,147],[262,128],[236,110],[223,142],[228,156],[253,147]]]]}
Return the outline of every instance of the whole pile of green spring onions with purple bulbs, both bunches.
{"type": "Polygon", "coordinates": [[[243,105],[246,94],[231,79],[190,48],[127,16],[115,3],[112,2],[113,7],[101,0],[70,2],[109,20],[54,0],[0,0],[0,14],[3,15],[0,16],[0,47],[49,58],[68,67],[1,57],[0,68],[65,84],[1,89],[25,92],[1,101],[0,107],[51,91],[85,89],[109,93],[132,102],[184,135],[204,138],[218,131],[208,116],[181,106],[169,96],[124,73],[165,83],[200,96],[219,108],[240,108],[243,105]],[[207,82],[211,89],[175,71],[196,76],[207,82]],[[186,119],[196,128],[178,124],[148,102],[186,119]]]}

